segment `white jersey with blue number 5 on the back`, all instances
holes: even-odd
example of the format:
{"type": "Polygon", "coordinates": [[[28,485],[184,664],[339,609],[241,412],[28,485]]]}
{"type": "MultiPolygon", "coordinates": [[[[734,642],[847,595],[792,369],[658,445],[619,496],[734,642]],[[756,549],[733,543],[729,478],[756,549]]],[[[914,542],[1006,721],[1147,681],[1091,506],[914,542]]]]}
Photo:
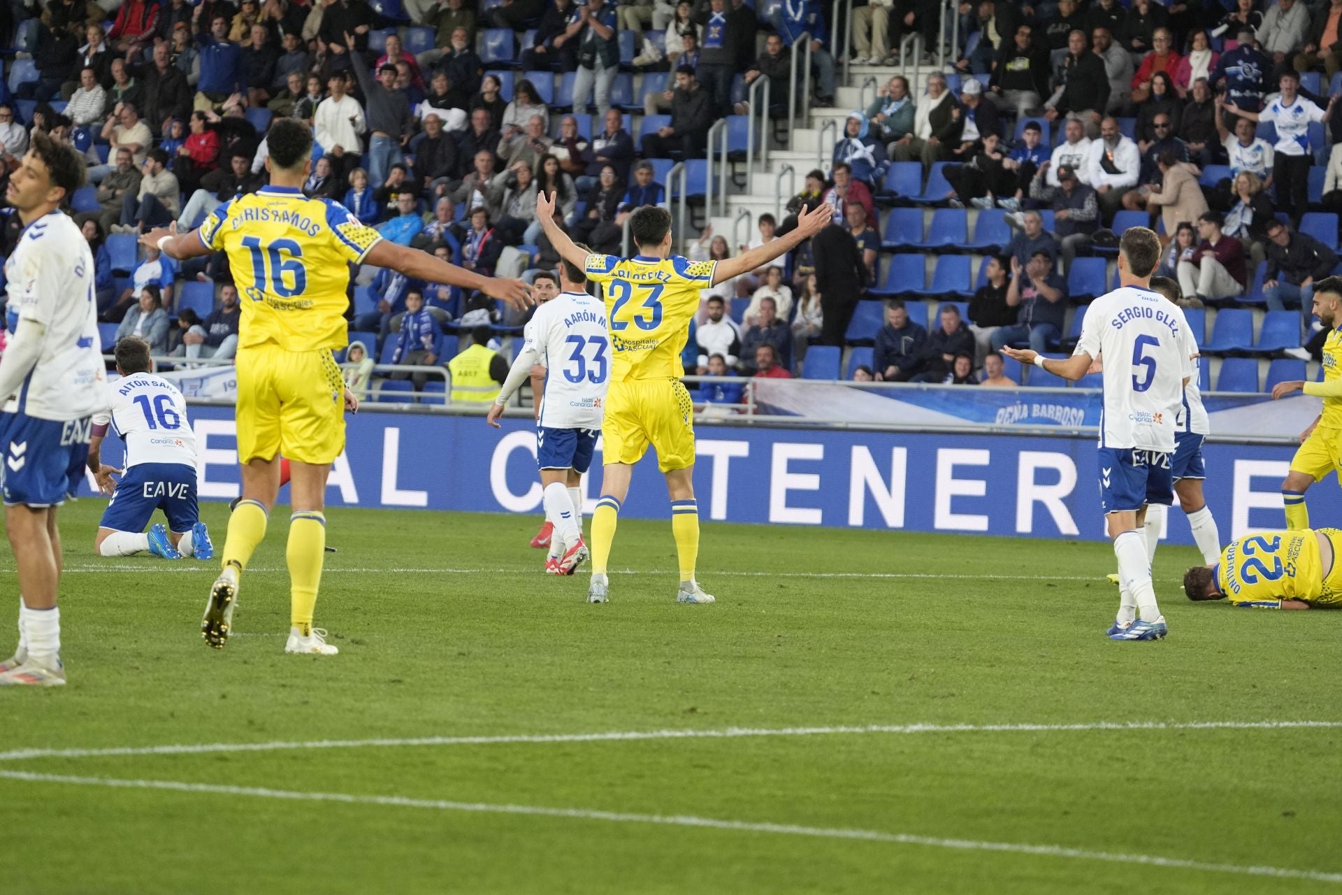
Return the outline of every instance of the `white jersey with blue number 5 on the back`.
{"type": "Polygon", "coordinates": [[[1104,356],[1099,445],[1169,454],[1193,369],[1188,322],[1159,293],[1123,286],[1086,311],[1076,354],[1104,356]]]}

